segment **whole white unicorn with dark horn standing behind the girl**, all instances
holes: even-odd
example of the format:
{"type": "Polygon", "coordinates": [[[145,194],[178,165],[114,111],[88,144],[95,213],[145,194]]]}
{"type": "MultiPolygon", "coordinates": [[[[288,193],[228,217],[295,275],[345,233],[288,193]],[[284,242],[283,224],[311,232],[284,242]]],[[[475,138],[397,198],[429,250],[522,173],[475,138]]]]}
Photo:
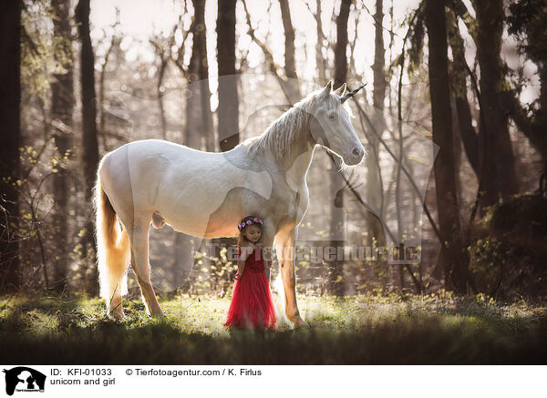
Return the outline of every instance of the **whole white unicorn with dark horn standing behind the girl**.
{"type": "Polygon", "coordinates": [[[308,207],[306,175],[316,145],[335,152],[346,166],[363,159],[365,148],[343,105],[360,88],[346,94],[346,84],[333,91],[329,82],[263,134],[227,152],[145,139],[105,155],[98,166],[95,207],[100,294],[108,316],[123,318],[129,263],[147,312],[163,315],[150,282],[150,222],[211,239],[237,235],[240,219],[256,215],[263,219],[263,247],[275,245],[286,316],[293,327],[305,326],[294,290],[294,240],[308,207]]]}

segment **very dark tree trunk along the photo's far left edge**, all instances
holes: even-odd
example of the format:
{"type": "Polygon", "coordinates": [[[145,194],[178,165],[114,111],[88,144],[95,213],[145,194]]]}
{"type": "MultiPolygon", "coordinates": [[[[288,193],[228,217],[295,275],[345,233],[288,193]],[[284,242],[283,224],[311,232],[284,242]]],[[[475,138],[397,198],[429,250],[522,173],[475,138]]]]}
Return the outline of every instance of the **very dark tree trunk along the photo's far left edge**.
{"type": "Polygon", "coordinates": [[[22,1],[0,5],[0,291],[16,291],[19,276],[19,179],[21,146],[21,7],[22,1]]]}

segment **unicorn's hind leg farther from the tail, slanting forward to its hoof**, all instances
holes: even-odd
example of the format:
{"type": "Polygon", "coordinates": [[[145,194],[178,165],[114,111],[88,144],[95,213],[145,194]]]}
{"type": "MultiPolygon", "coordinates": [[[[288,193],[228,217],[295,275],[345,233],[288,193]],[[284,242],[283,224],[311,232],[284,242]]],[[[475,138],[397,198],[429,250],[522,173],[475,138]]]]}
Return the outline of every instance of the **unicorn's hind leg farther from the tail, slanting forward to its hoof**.
{"type": "Polygon", "coordinates": [[[156,298],[150,280],[149,229],[150,219],[147,219],[146,221],[136,222],[132,230],[131,268],[137,276],[140,291],[142,292],[142,301],[147,313],[151,316],[165,316],[161,311],[160,303],[156,298]]]}

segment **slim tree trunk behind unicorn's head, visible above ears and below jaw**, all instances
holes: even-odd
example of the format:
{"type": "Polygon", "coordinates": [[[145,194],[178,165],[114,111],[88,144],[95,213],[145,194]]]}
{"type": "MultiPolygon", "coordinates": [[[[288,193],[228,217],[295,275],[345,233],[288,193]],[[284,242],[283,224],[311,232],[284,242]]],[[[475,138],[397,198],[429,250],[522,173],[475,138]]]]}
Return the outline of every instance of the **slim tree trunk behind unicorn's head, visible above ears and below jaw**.
{"type": "MultiPolygon", "coordinates": [[[[335,88],[342,86],[346,83],[347,75],[347,56],[346,56],[346,47],[347,47],[347,19],[349,17],[349,7],[351,5],[351,0],[342,0],[340,4],[340,12],[336,17],[336,46],[335,46],[335,88]]],[[[335,248],[336,252],[343,248],[342,234],[344,232],[344,179],[338,173],[337,169],[338,162],[340,161],[337,157],[333,157],[328,154],[331,158],[335,159],[335,163],[331,168],[331,192],[336,192],[335,203],[331,204],[331,220],[330,220],[330,235],[332,237],[331,246],[335,248]]],[[[329,278],[330,278],[330,290],[336,296],[344,295],[344,270],[343,262],[335,259],[331,260],[329,263],[329,278]]]]}

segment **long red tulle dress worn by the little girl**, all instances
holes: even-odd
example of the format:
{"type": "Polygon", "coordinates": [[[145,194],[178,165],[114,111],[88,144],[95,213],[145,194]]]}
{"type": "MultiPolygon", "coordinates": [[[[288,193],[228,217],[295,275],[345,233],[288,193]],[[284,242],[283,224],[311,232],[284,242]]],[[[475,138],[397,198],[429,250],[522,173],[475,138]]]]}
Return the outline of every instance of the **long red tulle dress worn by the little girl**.
{"type": "MultiPolygon", "coordinates": [[[[240,249],[238,259],[242,254],[240,249]]],[[[264,273],[260,247],[245,260],[245,269],[239,281],[235,281],[232,302],[224,326],[228,328],[275,329],[274,297],[264,273]]]]}

